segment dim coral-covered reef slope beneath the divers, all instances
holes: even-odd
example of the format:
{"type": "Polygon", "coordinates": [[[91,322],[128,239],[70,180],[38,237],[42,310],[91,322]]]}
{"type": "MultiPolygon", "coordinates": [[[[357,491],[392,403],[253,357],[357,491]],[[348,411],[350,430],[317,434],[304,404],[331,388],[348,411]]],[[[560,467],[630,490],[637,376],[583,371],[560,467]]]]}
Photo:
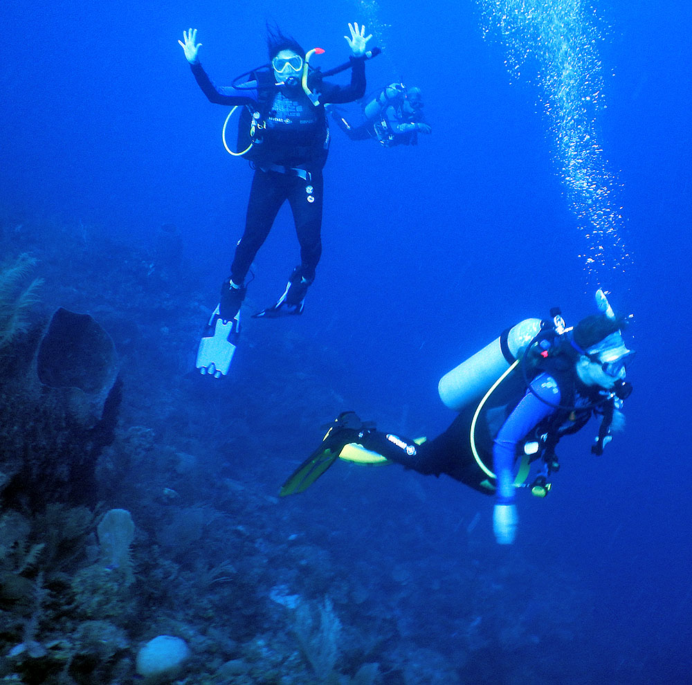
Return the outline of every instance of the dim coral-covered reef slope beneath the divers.
{"type": "Polygon", "coordinates": [[[131,683],[158,635],[190,648],[178,685],[568,682],[565,668],[576,683],[602,668],[576,639],[579,578],[493,556],[473,493],[461,522],[410,474],[340,465],[318,495],[277,500],[347,408],[340,356],[280,327],[253,345],[250,322],[233,380],[187,375],[208,310],[173,277],[177,248],[89,235],[55,226],[39,259],[46,306],[91,311],[115,343],[100,420],[79,426],[64,395],[26,383],[44,316],[3,349],[0,682],[131,683]],[[136,522],[116,526],[117,552],[112,509],[136,522]]]}

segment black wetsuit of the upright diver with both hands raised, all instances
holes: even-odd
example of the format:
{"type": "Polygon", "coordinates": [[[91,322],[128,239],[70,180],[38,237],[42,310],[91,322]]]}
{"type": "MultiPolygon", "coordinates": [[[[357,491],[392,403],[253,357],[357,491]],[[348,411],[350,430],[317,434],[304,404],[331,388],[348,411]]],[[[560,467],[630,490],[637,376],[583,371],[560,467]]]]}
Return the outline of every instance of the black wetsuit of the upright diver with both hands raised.
{"type": "MultiPolygon", "coordinates": [[[[338,86],[322,82],[320,104],[314,107],[300,84],[289,89],[271,84],[239,94],[231,86],[215,86],[199,62],[190,65],[197,83],[210,102],[257,109],[266,120],[264,142],[253,159],[253,177],[245,230],[235,250],[231,274],[242,284],[262,247],[276,215],[287,200],[293,212],[300,243],[300,271],[309,282],[322,254],[322,167],[327,161],[329,129],[324,104],[352,102],[365,93],[365,59],[351,57],[351,82],[338,86]],[[263,104],[260,104],[263,102],[263,104]]],[[[249,156],[249,155],[248,155],[249,156]]]]}

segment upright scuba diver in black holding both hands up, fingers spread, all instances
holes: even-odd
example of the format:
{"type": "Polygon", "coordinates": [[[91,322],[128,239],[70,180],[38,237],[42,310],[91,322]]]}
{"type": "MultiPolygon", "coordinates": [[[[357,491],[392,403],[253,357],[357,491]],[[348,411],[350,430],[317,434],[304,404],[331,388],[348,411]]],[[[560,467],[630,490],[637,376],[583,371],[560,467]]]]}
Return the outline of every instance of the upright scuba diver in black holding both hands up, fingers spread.
{"type": "MultiPolygon", "coordinates": [[[[292,37],[268,29],[270,64],[248,74],[242,86],[215,86],[199,62],[197,29],[183,31],[185,57],[199,87],[210,102],[244,107],[239,141],[249,143],[242,154],[255,169],[245,221],[237,244],[230,277],[221,284],[219,316],[233,320],[242,304],[246,275],[257,251],[271,230],[277,212],[285,201],[293,212],[300,243],[300,265],[293,269],[286,290],[273,307],[255,316],[271,316],[284,311],[301,313],[308,286],[322,253],[322,167],[329,152],[329,127],[325,104],[353,102],[365,93],[365,26],[349,24],[351,37],[351,82],[338,86],[318,80],[309,71],[309,57],[292,37]],[[245,108],[246,106],[246,108],[245,108]],[[248,132],[249,131],[249,132],[248,132]]],[[[241,148],[242,149],[242,148],[241,148]]],[[[230,152],[230,151],[229,151],[230,152]]]]}

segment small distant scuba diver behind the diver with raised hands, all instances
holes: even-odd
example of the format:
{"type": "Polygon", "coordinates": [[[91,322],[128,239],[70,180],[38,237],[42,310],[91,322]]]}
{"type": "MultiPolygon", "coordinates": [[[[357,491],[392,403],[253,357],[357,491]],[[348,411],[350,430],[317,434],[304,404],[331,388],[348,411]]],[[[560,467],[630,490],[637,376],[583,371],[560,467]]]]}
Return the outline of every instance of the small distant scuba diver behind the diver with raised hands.
{"type": "Polygon", "coordinates": [[[331,117],[351,140],[374,138],[384,147],[418,145],[418,134],[430,134],[432,128],[424,120],[423,94],[417,86],[407,88],[392,83],[383,88],[363,109],[365,121],[352,126],[340,115],[338,108],[329,107],[331,117]]]}

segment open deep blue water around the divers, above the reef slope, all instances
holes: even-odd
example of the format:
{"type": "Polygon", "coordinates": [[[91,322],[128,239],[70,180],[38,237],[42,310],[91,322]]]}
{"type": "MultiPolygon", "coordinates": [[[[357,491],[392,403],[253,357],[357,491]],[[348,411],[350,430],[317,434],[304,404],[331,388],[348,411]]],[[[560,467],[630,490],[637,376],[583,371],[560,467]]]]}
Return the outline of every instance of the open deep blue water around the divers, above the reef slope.
{"type": "MultiPolygon", "coordinates": [[[[611,26],[599,46],[602,144],[623,183],[623,235],[635,255],[604,285],[635,313],[635,394],[626,434],[602,459],[588,456],[586,437],[574,440],[551,497],[521,502],[517,545],[546,573],[553,564],[576,569],[592,586],[599,625],[640,645],[652,678],[686,682],[692,17],[682,1],[597,10],[611,26]]],[[[203,97],[177,39],[197,27],[203,64],[228,83],[265,61],[265,18],[306,48],[326,48],[324,62],[334,64],[347,56],[347,21],[361,15],[347,0],[6,1],[3,219],[57,217],[134,241],[176,223],[211,304],[242,231],[251,172],[224,152],[226,111],[203,97]]],[[[340,351],[361,413],[401,416],[399,430],[433,435],[452,418],[437,399],[439,376],[555,304],[574,322],[592,311],[592,293],[537,92],[509,83],[502,47],[482,39],[474,3],[383,0],[378,16],[391,26],[385,55],[367,66],[368,88],[419,84],[433,134],[417,148],[385,150],[333,131],[325,251],[300,327],[340,351]]],[[[255,262],[251,300],[280,293],[296,259],[282,210],[255,262]]],[[[441,497],[444,511],[462,517],[479,509],[456,484],[421,486],[431,508],[441,497]]],[[[480,511],[490,535],[489,504],[480,511]]]]}

